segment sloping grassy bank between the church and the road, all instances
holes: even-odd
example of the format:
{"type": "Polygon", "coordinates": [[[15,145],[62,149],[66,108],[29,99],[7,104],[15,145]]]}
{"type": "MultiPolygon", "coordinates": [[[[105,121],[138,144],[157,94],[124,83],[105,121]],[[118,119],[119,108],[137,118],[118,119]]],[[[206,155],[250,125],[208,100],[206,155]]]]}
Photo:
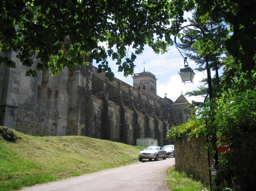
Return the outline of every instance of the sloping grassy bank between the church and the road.
{"type": "Polygon", "coordinates": [[[0,191],[136,163],[143,149],[89,137],[34,137],[8,132],[18,139],[7,141],[0,131],[0,191]]]}

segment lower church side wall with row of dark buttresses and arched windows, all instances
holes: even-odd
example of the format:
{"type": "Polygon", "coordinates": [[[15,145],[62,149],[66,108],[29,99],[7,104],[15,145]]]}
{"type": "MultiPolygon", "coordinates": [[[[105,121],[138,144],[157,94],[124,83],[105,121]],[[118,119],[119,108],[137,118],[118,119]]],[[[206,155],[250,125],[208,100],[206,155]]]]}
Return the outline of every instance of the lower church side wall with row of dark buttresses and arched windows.
{"type": "Polygon", "coordinates": [[[92,120],[93,137],[95,138],[129,145],[136,145],[136,139],[139,138],[155,138],[158,140],[159,146],[168,144],[165,136],[171,123],[140,113],[135,108],[129,109],[122,104],[110,102],[107,97],[93,96],[92,120]],[[110,125],[104,123],[104,121],[108,121],[107,119],[110,120],[110,125]]]}

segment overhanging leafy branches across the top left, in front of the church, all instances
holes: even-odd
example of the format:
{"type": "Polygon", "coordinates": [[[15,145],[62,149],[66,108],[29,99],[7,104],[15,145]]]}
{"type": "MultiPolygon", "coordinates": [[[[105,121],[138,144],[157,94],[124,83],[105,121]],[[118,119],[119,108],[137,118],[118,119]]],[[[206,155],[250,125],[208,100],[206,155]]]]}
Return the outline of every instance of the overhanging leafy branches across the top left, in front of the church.
{"type": "Polygon", "coordinates": [[[65,66],[74,69],[95,59],[98,72],[113,80],[107,62],[112,57],[128,76],[145,44],[156,53],[167,52],[171,34],[184,22],[183,11],[193,6],[168,0],[2,0],[0,51],[6,54],[0,63],[15,67],[8,57],[14,51],[23,65],[36,64],[56,75],[65,66]]]}

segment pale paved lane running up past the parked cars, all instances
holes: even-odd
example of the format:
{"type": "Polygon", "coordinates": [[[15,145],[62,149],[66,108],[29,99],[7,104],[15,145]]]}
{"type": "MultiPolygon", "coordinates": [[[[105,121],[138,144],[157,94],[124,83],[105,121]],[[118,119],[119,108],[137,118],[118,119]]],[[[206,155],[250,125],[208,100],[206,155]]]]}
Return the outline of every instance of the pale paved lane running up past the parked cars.
{"type": "Polygon", "coordinates": [[[170,191],[166,170],[175,164],[173,157],[147,161],[93,174],[42,184],[23,191],[170,191]]]}

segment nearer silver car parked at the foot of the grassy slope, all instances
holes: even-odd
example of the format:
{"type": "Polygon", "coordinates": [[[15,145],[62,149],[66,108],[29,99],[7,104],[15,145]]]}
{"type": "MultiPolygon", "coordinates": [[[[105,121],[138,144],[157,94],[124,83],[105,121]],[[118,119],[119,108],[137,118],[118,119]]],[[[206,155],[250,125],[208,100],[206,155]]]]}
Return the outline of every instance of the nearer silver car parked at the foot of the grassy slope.
{"type": "Polygon", "coordinates": [[[139,160],[149,159],[151,161],[154,159],[157,161],[159,158],[167,158],[166,151],[162,147],[147,147],[139,153],[139,160]]]}

